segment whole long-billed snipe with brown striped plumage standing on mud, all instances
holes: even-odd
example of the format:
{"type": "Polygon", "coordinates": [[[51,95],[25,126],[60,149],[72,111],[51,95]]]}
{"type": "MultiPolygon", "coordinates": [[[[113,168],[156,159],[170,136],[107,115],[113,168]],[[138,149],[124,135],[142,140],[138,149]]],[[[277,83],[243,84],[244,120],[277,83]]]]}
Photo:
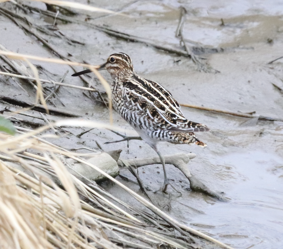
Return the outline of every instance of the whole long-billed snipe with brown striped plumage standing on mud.
{"type": "MultiPolygon", "coordinates": [[[[110,55],[100,70],[106,69],[111,77],[112,101],[114,109],[139,133],[158,154],[164,169],[164,188],[169,184],[164,158],[156,148],[157,142],[179,144],[206,144],[198,140],[194,132],[210,131],[203,124],[187,120],[180,105],[170,92],[158,83],[143,79],[136,74],[131,58],[125,53],[110,55]]],[[[85,70],[78,76],[89,73],[85,70]]]]}

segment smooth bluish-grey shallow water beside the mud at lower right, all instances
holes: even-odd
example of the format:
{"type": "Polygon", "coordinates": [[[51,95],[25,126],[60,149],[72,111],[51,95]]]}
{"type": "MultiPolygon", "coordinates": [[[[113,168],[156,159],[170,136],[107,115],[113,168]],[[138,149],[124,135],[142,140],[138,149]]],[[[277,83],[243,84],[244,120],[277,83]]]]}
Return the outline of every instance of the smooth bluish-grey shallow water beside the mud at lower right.
{"type": "Polygon", "coordinates": [[[213,234],[235,248],[280,248],[283,229],[282,158],[274,153],[254,150],[232,153],[213,163],[230,165],[243,179],[226,191],[231,198],[229,203],[208,206],[205,215],[193,217],[190,224],[215,226],[196,226],[196,229],[213,234]]]}

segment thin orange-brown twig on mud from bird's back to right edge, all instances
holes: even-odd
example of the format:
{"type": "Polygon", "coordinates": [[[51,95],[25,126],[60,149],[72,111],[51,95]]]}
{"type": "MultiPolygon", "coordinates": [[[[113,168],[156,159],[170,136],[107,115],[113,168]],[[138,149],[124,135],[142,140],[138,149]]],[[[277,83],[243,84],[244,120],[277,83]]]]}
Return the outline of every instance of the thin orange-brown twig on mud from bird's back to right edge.
{"type": "Polygon", "coordinates": [[[283,121],[282,118],[272,118],[268,116],[256,116],[252,114],[247,114],[247,113],[241,113],[241,112],[230,112],[230,111],[223,111],[219,109],[214,109],[214,108],[209,108],[209,107],[203,107],[203,106],[198,106],[198,105],[189,105],[189,104],[180,104],[181,106],[189,107],[189,108],[194,108],[194,109],[199,109],[203,111],[210,111],[210,112],[220,112],[223,114],[229,114],[233,116],[238,116],[238,117],[243,117],[243,118],[257,118],[259,120],[268,120],[268,121],[283,121]]]}

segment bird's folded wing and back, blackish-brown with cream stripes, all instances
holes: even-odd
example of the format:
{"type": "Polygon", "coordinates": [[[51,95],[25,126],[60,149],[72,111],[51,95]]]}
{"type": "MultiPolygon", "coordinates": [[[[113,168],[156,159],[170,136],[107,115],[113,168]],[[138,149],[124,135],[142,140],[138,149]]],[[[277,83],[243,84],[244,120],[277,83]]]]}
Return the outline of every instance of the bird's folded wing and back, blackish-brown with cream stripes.
{"type": "Polygon", "coordinates": [[[203,124],[187,120],[178,102],[164,87],[154,81],[134,76],[130,81],[123,82],[124,100],[138,105],[153,120],[162,118],[165,121],[159,122],[162,129],[176,132],[210,131],[203,124]]]}

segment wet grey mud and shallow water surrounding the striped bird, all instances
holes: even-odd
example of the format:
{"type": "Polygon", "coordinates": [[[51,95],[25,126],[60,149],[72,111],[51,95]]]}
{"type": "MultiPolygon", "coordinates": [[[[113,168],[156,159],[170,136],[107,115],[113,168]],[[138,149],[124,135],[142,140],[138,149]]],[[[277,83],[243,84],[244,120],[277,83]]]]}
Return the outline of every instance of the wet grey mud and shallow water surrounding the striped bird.
{"type": "MultiPolygon", "coordinates": [[[[118,3],[111,0],[90,1],[90,4],[112,10],[122,9],[130,17],[110,15],[95,19],[104,14],[87,13],[93,18],[88,22],[108,25],[115,30],[150,38],[178,49],[183,49],[179,45],[179,39],[175,38],[179,20],[178,7],[184,6],[188,10],[184,25],[184,36],[189,40],[188,44],[227,49],[224,53],[201,55],[206,59],[203,61],[220,73],[199,72],[188,58],[168,54],[144,44],[119,40],[84,25],[59,23],[58,27],[65,36],[85,42],[84,46],[70,45],[62,39],[52,37],[52,46],[65,56],[71,54],[68,58],[101,64],[110,54],[123,51],[131,56],[139,75],[161,83],[179,103],[234,112],[256,111],[258,115],[282,118],[283,96],[272,83],[283,87],[283,60],[267,65],[267,62],[283,55],[283,5],[279,1],[167,0],[118,3]],[[221,18],[224,26],[220,26],[221,18]]],[[[37,3],[37,6],[45,7],[43,3],[37,3]]],[[[84,20],[85,17],[81,15],[77,18],[84,20]]],[[[29,18],[46,25],[52,22],[39,15],[29,18]]],[[[53,56],[34,37],[26,35],[3,16],[0,16],[0,32],[0,44],[11,51],[53,56]]],[[[46,69],[46,74],[40,75],[42,78],[51,77],[56,81],[70,70],[67,66],[41,62],[36,64],[46,69]]],[[[83,86],[82,81],[71,77],[71,74],[70,71],[64,83],[83,86]]],[[[110,80],[107,72],[102,74],[110,80]]],[[[103,91],[98,81],[93,86],[103,91]]],[[[12,88],[15,96],[21,94],[17,97],[19,99],[31,102],[35,99],[34,92],[24,84],[23,87],[29,91],[30,96],[11,80],[5,84],[1,82],[1,87],[1,94],[10,94],[12,88]]],[[[105,106],[95,101],[93,96],[86,95],[80,90],[60,88],[58,98],[65,106],[58,99],[54,99],[54,103],[57,107],[82,114],[84,119],[108,122],[108,110],[105,106]]],[[[207,143],[207,148],[168,143],[160,143],[158,148],[163,154],[196,153],[196,158],[188,164],[192,174],[212,190],[225,192],[224,196],[229,200],[220,202],[191,192],[189,181],[179,170],[168,165],[168,176],[183,194],[178,198],[178,194],[169,187],[172,192],[170,215],[234,248],[282,248],[283,122],[259,121],[248,124],[245,123],[248,121],[246,118],[185,107],[182,110],[185,117],[211,128],[209,133],[197,134],[207,143]]],[[[114,113],[114,121],[116,125],[132,130],[117,113],[114,113]]],[[[82,132],[79,129],[69,130],[74,135],[82,132]]],[[[98,140],[106,151],[122,148],[122,158],[156,156],[143,141],[130,141],[129,150],[126,142],[104,144],[117,139],[119,137],[110,131],[94,129],[81,138],[68,135],[53,142],[66,148],[95,148],[94,141],[98,140]]],[[[163,182],[160,165],[142,167],[139,173],[150,189],[158,189],[163,182]]],[[[125,169],[121,169],[121,174],[135,180],[125,169]]],[[[140,193],[138,186],[121,181],[140,193]]],[[[129,204],[137,204],[116,186],[109,185],[106,188],[129,204]]],[[[160,207],[168,202],[166,194],[158,192],[152,195],[160,207]]],[[[163,210],[168,212],[167,207],[163,210]]]]}

